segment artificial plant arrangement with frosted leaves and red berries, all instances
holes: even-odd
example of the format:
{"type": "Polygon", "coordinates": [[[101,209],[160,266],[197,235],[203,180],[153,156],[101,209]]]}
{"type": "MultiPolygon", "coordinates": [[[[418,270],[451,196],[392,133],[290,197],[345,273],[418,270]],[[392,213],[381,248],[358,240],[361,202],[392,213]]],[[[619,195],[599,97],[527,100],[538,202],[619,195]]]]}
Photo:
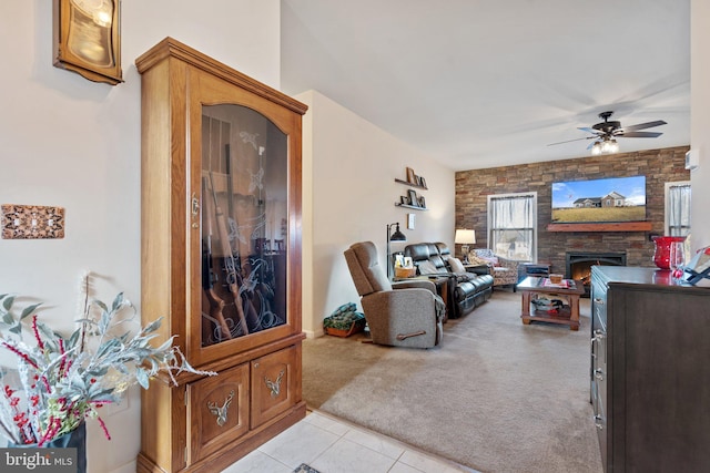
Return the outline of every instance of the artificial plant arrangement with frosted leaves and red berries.
{"type": "Polygon", "coordinates": [[[69,337],[39,320],[41,304],[18,315],[16,296],[0,295],[0,347],[17,358],[17,370],[0,369],[0,429],[16,444],[43,446],[87,418],[97,419],[111,440],[98,410],[120,402],[129,387],[138,383],[148,389],[160,371],[174,384],[183,371],[215,374],[190,366],[173,346],[174,336],[159,347],[151,345],[162,318],[132,333],[136,310],[122,292],[109,307],[90,300],[88,291],[87,273],[81,280],[79,326],[69,337]]]}

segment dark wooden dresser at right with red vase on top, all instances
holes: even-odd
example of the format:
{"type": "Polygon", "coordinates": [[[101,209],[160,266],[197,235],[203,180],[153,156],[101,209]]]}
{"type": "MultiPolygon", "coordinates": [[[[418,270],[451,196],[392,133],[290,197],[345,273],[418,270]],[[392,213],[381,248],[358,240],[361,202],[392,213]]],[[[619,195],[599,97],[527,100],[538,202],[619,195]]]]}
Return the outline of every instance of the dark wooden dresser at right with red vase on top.
{"type": "Polygon", "coordinates": [[[606,472],[710,469],[710,289],[594,266],[591,403],[606,472]]]}

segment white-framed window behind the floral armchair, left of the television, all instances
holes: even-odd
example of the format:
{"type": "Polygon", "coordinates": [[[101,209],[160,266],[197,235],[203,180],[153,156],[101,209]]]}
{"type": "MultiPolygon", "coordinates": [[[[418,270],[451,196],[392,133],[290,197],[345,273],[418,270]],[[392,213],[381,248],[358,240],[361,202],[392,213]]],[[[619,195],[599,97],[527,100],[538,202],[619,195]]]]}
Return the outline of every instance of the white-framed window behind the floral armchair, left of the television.
{"type": "Polygon", "coordinates": [[[488,196],[488,247],[506,258],[537,260],[537,193],[488,196]]]}

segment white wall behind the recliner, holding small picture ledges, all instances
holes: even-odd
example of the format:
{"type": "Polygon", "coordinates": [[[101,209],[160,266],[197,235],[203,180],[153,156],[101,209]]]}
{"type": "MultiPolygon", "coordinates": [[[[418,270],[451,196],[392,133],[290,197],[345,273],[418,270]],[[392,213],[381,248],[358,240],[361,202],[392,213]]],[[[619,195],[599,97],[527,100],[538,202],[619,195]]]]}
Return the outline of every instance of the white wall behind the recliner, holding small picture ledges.
{"type": "MultiPolygon", "coordinates": [[[[407,243],[454,244],[454,172],[355,115],[316,91],[297,95],[308,105],[304,121],[304,330],[323,332],[323,318],[345,302],[359,302],[343,251],[353,243],[372,240],[385,264],[386,226],[398,222],[407,243]],[[408,187],[405,168],[426,178],[427,212],[395,207],[408,187]],[[305,186],[307,187],[307,186],[305,186]],[[310,194],[307,194],[310,191],[310,194]],[[416,214],[415,229],[406,214],[416,214]]],[[[393,243],[402,250],[407,243],[393,243]]]]}

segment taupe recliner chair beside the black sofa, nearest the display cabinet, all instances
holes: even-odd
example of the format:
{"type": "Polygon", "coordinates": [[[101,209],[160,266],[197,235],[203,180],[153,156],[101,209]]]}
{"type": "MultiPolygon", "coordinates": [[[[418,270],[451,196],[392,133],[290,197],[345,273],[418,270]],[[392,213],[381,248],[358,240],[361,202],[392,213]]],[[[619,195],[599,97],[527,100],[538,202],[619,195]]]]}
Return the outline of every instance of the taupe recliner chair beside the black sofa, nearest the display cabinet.
{"type": "Polygon", "coordinates": [[[446,307],[428,280],[392,284],[372,241],[344,251],[374,343],[430,348],[442,341],[446,307]]]}

